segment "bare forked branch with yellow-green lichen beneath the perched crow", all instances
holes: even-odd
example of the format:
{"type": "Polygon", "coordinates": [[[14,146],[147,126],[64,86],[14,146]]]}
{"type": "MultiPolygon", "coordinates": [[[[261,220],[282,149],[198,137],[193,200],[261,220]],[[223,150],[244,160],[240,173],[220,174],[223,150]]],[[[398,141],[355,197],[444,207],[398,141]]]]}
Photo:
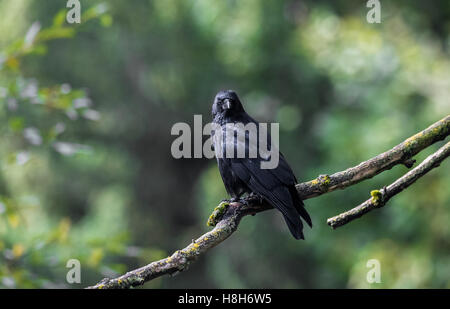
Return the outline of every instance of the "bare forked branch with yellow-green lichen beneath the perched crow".
{"type": "MultiPolygon", "coordinates": [[[[365,179],[372,178],[373,176],[385,170],[391,169],[393,166],[398,164],[404,164],[407,167],[412,167],[415,162],[412,160],[414,155],[431,144],[445,139],[449,133],[450,115],[434,123],[427,129],[408,138],[391,150],[388,150],[370,160],[364,161],[355,167],[348,168],[345,171],[335,173],[331,176],[320,175],[316,179],[298,184],[296,186],[297,192],[302,199],[308,199],[337,189],[347,188],[348,186],[361,182],[365,179]]],[[[427,158],[422,164],[410,171],[404,177],[400,178],[391,186],[386,188],[386,191],[380,193],[381,196],[379,196],[378,205],[384,205],[390,197],[401,192],[417,178],[436,167],[448,156],[448,148],[449,143],[442,147],[438,152],[427,158]]],[[[374,194],[378,196],[378,193],[374,194]]],[[[365,203],[362,205],[364,204],[365,203]]],[[[362,205],[358,207],[362,207],[362,205]]],[[[249,214],[256,214],[271,208],[272,206],[263,201],[259,201],[259,199],[254,196],[245,198],[242,203],[235,202],[229,205],[221,203],[218,207],[216,207],[211,215],[211,218],[208,220],[210,225],[215,225],[214,229],[200,236],[186,248],[176,251],[174,254],[165,259],[150,263],[139,269],[132,270],[118,278],[105,278],[95,286],[88,288],[130,288],[142,285],[147,281],[166,274],[173,275],[184,271],[188,268],[189,264],[195,261],[201,254],[218,245],[227,239],[234,231],[236,231],[242,217],[249,214]]],[[[365,212],[362,210],[358,214],[361,216],[368,211],[370,210],[365,212]]],[[[345,217],[350,218],[350,216],[345,217]]]]}

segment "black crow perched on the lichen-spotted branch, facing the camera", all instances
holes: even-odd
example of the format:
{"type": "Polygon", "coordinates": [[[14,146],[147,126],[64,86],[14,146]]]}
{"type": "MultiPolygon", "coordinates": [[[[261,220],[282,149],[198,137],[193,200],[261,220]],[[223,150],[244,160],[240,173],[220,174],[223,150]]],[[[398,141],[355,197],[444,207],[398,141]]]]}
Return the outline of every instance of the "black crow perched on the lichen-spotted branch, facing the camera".
{"type": "Polygon", "coordinates": [[[259,123],[245,112],[237,94],[232,90],[220,91],[216,95],[212,106],[212,116],[214,151],[220,175],[232,200],[238,200],[244,193],[260,196],[283,214],[289,230],[296,239],[304,239],[300,217],[312,227],[311,218],[297,194],[295,189],[297,179],[286,159],[281,152],[275,150],[278,155],[278,165],[272,169],[261,168],[263,161],[270,160],[268,154],[273,154],[270,152],[274,149],[271,148],[270,134],[267,133],[265,137],[267,147],[262,147],[259,123]],[[236,124],[242,124],[246,129],[236,124]],[[252,126],[246,126],[248,124],[255,124],[254,127],[257,128],[256,140],[255,134],[249,134],[247,128],[252,126]],[[215,129],[214,126],[216,126],[215,129]],[[232,127],[233,131],[227,127],[232,127]],[[229,132],[228,138],[227,132],[229,132]],[[239,147],[245,150],[244,156],[237,155],[239,147]],[[227,148],[232,151],[228,151],[227,148]],[[260,151],[258,148],[268,150],[260,151]],[[258,150],[256,155],[254,152],[251,155],[252,150],[258,150]],[[231,154],[232,157],[230,157],[231,154]]]}

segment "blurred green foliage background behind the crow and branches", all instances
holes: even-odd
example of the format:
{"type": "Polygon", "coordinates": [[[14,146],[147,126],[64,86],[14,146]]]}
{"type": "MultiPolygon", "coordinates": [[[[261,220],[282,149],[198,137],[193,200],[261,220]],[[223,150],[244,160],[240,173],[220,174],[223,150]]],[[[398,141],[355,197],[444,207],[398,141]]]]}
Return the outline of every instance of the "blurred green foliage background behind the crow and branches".
{"type": "MultiPolygon", "coordinates": [[[[170,134],[234,89],[307,181],[358,164],[450,113],[450,2],[0,0],[0,287],[81,288],[206,232],[226,193],[215,160],[172,158],[170,134]],[[66,262],[81,262],[81,284],[66,262]]],[[[417,156],[424,159],[441,143],[417,156]]],[[[326,219],[406,172],[279,213],[146,288],[450,288],[450,165],[338,230],[326,219]],[[369,284],[366,263],[381,263],[369,284]]]]}

